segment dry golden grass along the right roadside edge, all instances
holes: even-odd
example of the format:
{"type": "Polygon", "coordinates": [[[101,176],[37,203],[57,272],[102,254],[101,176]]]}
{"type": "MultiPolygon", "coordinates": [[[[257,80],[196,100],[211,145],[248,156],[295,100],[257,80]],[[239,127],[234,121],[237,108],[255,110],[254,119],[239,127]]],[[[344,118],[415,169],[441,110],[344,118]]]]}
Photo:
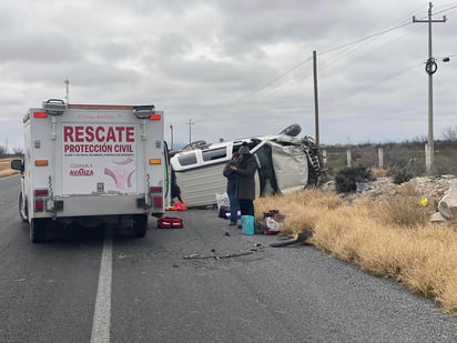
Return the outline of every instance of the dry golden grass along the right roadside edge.
{"type": "Polygon", "coordinates": [[[439,302],[457,314],[457,231],[455,223],[429,223],[429,209],[417,203],[412,188],[388,201],[359,199],[347,204],[336,194],[304,190],[255,200],[257,219],[277,209],[287,214],[284,234],[313,230],[307,243],[388,276],[412,292],[439,302]]]}

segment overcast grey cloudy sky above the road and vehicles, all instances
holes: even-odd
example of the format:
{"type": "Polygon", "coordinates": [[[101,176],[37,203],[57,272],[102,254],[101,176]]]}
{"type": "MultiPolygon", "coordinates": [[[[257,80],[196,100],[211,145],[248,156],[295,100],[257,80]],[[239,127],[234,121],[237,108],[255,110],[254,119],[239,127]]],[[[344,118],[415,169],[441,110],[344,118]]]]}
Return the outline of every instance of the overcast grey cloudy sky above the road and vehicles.
{"type": "MultiPolygon", "coordinates": [[[[174,143],[274,134],[322,144],[383,143],[428,132],[428,1],[2,0],[0,145],[49,98],[150,104],[174,143]],[[189,123],[192,123],[191,125],[189,123]],[[191,128],[191,138],[190,138],[191,128]]],[[[434,135],[457,127],[457,2],[434,1],[434,135]],[[450,56],[450,61],[441,59],[450,56]]]]}

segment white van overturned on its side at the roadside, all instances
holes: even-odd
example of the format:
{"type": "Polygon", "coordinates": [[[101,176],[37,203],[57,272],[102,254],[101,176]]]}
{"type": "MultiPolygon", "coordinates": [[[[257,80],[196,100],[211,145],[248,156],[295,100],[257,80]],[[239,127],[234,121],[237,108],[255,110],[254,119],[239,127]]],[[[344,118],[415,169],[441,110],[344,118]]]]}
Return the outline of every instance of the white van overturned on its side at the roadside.
{"type": "Polygon", "coordinates": [[[170,160],[184,203],[191,208],[216,203],[215,194],[226,189],[224,165],[243,142],[247,142],[257,165],[257,198],[317,184],[323,174],[318,149],[309,137],[298,138],[301,131],[294,124],[276,135],[187,145],[170,160]]]}

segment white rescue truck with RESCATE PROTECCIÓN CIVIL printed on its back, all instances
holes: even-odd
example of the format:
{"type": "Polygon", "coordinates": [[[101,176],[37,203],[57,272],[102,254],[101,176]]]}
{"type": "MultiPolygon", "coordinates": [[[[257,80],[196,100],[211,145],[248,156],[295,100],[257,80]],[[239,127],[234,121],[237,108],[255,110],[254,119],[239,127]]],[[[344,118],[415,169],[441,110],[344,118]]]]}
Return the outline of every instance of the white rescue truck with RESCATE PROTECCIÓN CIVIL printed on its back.
{"type": "Polygon", "coordinates": [[[164,118],[154,105],[65,104],[50,99],[23,118],[19,212],[33,243],[53,222],[131,226],[144,236],[149,215],[170,199],[164,118]]]}

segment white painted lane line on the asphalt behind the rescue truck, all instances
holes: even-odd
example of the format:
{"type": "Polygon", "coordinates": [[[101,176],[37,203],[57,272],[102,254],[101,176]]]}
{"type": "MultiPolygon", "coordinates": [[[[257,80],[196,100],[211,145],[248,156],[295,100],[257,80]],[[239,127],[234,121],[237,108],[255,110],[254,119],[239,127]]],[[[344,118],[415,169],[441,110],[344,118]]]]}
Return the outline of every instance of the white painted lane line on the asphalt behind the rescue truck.
{"type": "Polygon", "coordinates": [[[111,325],[111,280],[113,238],[105,228],[102,259],[100,262],[99,286],[92,321],[91,343],[109,343],[111,325]]]}

